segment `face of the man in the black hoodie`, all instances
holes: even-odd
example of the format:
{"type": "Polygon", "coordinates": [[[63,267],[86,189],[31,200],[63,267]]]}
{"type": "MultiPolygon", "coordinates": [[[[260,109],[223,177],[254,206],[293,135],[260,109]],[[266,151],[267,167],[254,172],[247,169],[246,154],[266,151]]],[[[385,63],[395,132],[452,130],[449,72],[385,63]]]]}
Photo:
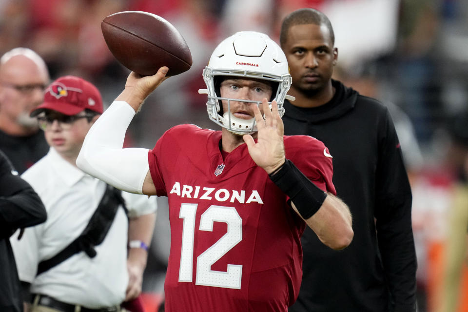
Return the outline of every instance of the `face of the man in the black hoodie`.
{"type": "Polygon", "coordinates": [[[338,50],[333,47],[326,25],[294,25],[289,29],[283,51],[288,59],[292,89],[315,94],[331,79],[338,50]]]}

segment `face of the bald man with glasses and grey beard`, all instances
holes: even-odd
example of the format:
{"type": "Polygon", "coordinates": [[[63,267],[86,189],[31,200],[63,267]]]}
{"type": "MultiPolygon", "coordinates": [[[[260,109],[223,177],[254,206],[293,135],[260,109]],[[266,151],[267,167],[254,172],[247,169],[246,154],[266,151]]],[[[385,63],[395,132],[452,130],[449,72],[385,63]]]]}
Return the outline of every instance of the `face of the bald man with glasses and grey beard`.
{"type": "Polygon", "coordinates": [[[21,55],[9,59],[0,70],[1,114],[22,126],[36,126],[29,113],[42,103],[48,82],[46,70],[31,59],[21,55]]]}

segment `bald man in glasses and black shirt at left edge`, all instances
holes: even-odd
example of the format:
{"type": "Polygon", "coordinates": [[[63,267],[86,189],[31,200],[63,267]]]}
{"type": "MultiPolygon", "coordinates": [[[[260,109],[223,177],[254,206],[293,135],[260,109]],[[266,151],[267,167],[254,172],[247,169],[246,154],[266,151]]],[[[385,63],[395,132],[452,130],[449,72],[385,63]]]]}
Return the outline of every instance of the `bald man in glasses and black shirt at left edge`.
{"type": "Polygon", "coordinates": [[[49,73],[43,59],[27,48],[0,58],[0,150],[21,174],[49,150],[29,112],[42,103],[49,73]]]}

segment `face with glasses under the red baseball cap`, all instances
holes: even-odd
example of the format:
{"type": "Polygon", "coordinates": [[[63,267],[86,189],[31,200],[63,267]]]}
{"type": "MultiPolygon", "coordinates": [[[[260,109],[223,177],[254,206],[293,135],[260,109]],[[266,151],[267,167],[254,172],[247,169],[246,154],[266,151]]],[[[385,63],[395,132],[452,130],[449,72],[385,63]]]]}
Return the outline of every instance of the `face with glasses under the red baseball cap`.
{"type": "Polygon", "coordinates": [[[94,117],[90,122],[84,115],[85,112],[81,112],[70,118],[56,111],[48,111],[45,117],[38,117],[47,143],[64,158],[75,159],[78,156],[84,137],[97,119],[94,117]]]}

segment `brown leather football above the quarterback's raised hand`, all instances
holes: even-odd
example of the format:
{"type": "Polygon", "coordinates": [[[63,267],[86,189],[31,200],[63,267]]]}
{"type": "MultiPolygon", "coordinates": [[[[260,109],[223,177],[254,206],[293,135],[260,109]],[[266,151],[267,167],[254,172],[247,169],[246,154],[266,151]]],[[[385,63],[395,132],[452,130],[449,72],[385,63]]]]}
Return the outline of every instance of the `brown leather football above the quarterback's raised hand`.
{"type": "Polygon", "coordinates": [[[115,58],[137,74],[154,75],[161,66],[167,66],[166,76],[175,76],[192,66],[185,39],[160,16],[142,11],[118,12],[104,18],[101,29],[115,58]]]}

